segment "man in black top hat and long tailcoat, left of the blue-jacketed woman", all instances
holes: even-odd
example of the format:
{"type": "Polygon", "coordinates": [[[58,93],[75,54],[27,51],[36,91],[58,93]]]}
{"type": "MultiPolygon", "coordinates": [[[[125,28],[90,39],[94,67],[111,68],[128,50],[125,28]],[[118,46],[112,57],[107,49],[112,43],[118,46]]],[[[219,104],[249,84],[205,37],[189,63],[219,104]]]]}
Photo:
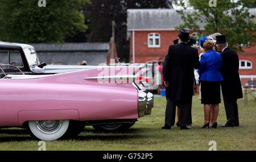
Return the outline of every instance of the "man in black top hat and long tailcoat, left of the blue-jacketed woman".
{"type": "Polygon", "coordinates": [[[187,43],[189,31],[181,29],[179,44],[169,46],[164,64],[164,85],[168,87],[169,114],[163,129],[171,129],[175,122],[176,105],[180,108],[180,129],[188,129],[189,109],[193,96],[194,69],[199,69],[200,61],[197,49],[187,43]]]}

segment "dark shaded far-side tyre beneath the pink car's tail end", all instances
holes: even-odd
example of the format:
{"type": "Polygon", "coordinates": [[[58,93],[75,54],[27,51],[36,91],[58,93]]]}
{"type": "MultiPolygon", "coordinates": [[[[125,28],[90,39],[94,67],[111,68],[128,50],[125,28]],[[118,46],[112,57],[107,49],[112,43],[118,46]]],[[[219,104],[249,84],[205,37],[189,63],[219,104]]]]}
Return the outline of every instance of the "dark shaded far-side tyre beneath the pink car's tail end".
{"type": "Polygon", "coordinates": [[[102,132],[125,131],[134,125],[133,123],[117,123],[109,125],[93,125],[93,128],[102,132]]]}

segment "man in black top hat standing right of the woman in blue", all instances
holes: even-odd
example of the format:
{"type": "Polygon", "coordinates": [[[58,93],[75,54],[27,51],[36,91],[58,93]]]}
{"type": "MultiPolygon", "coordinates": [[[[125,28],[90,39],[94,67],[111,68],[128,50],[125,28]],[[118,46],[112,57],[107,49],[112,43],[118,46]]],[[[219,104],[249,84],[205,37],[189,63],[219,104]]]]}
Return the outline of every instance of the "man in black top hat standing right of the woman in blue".
{"type": "Polygon", "coordinates": [[[221,52],[222,95],[226,111],[226,123],[222,127],[239,126],[237,99],[243,97],[239,70],[239,58],[234,50],[228,48],[225,35],[216,36],[216,46],[221,52]]]}

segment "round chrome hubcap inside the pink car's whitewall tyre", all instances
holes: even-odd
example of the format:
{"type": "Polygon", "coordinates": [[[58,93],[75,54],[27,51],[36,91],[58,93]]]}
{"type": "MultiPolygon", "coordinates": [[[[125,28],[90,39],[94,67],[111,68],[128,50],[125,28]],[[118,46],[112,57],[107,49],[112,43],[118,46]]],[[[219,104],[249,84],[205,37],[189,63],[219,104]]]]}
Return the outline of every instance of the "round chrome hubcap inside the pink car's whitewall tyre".
{"type": "Polygon", "coordinates": [[[63,123],[62,120],[36,121],[36,127],[38,127],[38,129],[42,131],[42,133],[53,134],[60,129],[62,123],[63,123]]]}

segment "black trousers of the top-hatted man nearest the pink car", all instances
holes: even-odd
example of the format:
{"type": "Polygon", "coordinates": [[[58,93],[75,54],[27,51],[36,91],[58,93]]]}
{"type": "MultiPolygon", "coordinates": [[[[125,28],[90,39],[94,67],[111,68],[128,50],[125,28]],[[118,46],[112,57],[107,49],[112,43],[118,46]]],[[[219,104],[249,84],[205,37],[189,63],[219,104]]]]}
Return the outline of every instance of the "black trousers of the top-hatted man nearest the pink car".
{"type": "Polygon", "coordinates": [[[179,105],[179,108],[180,108],[180,125],[186,126],[187,124],[191,124],[192,123],[192,117],[191,117],[192,104],[190,102],[189,103],[181,103],[181,102],[172,101],[170,99],[167,99],[166,117],[165,117],[166,125],[174,126],[177,105],[179,105]]]}

